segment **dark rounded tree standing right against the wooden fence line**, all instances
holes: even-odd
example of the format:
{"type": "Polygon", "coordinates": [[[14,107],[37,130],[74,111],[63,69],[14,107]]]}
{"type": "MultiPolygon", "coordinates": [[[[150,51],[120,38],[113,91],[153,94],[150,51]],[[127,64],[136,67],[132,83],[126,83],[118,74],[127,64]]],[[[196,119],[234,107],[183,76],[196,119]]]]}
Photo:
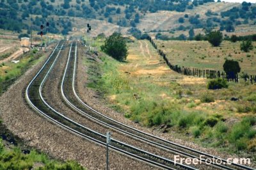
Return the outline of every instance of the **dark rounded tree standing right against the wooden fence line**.
{"type": "Polygon", "coordinates": [[[237,73],[241,71],[238,61],[227,59],[223,65],[223,70],[227,74],[228,79],[234,79],[237,76],[237,73]]]}

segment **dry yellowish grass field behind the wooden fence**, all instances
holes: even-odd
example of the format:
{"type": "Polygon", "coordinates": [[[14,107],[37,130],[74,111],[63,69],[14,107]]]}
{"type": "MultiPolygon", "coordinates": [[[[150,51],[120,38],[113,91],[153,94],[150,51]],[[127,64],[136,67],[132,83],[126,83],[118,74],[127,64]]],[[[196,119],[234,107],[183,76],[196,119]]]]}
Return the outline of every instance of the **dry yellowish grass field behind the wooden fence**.
{"type": "MultiPolygon", "coordinates": [[[[191,68],[223,70],[225,59],[239,61],[241,72],[256,75],[256,48],[250,52],[240,49],[241,42],[224,41],[220,47],[212,47],[209,42],[201,41],[161,41],[157,47],[164,50],[173,65],[191,68]]],[[[253,42],[256,46],[256,42],[253,42]]]]}

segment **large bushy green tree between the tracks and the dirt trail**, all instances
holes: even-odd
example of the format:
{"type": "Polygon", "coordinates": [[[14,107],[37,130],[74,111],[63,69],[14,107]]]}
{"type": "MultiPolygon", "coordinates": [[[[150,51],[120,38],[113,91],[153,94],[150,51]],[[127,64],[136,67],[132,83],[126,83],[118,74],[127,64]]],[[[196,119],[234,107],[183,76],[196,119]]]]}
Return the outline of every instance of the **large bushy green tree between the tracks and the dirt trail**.
{"type": "Polygon", "coordinates": [[[100,49],[118,61],[124,61],[128,54],[125,39],[120,33],[113,33],[109,36],[100,49]]]}

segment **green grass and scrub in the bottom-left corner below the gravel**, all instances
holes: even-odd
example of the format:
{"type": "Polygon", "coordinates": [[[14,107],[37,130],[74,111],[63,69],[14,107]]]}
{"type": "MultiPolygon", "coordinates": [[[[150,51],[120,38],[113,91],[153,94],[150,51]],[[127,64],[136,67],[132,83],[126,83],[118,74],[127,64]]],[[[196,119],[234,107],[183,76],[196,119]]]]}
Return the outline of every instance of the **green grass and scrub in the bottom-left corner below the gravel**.
{"type": "Polygon", "coordinates": [[[5,148],[0,138],[0,169],[32,169],[35,164],[40,167],[35,169],[84,169],[74,161],[61,162],[53,160],[47,155],[31,150],[29,154],[24,154],[19,148],[5,148]]]}

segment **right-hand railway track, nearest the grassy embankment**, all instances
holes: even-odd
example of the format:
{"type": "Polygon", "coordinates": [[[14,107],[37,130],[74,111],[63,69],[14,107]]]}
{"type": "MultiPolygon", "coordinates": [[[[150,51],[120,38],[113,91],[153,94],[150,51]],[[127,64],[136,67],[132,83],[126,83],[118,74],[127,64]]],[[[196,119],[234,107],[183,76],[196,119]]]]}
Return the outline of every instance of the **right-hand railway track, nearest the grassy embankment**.
{"type": "Polygon", "coordinates": [[[95,109],[85,104],[76,93],[76,68],[77,47],[75,52],[72,53],[68,58],[65,74],[61,82],[61,95],[63,96],[65,102],[70,105],[70,107],[79,112],[79,114],[86,116],[86,118],[90,118],[91,120],[97,121],[102,125],[106,125],[106,127],[120,131],[123,134],[127,134],[136,139],[140,139],[141,141],[152,144],[164,150],[168,150],[177,155],[182,155],[183,157],[189,158],[196,158],[204,162],[204,164],[207,164],[208,166],[214,166],[216,169],[253,169],[251,167],[236,164],[234,162],[228,162],[223,158],[216,157],[202,151],[193,150],[192,148],[166,141],[154,135],[137,130],[136,128],[124,125],[123,123],[115,121],[105,116],[104,114],[95,111],[95,109]],[[209,162],[209,160],[211,160],[211,162],[209,162]]]}

